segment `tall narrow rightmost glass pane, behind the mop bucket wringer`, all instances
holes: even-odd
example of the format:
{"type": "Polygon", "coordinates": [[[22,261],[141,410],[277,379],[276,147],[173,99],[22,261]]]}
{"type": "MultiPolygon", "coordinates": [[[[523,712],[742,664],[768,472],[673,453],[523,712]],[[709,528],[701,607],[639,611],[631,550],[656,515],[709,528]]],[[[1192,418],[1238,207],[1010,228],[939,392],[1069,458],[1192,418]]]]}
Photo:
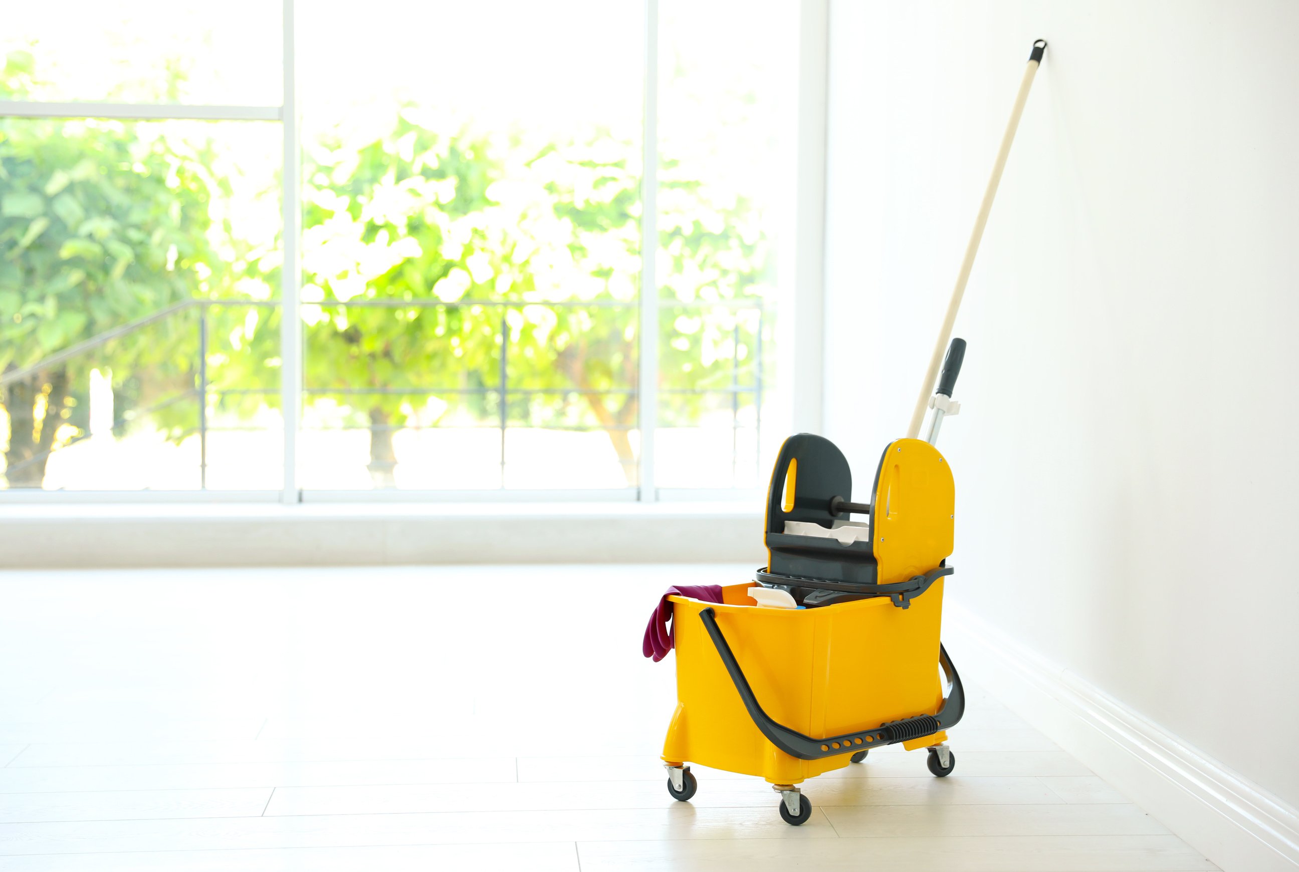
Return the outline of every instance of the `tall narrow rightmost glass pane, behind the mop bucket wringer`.
{"type": "Polygon", "coordinates": [[[759,413],[785,389],[776,253],[792,209],[796,16],[782,0],[743,16],[724,0],[660,3],[661,487],[755,487],[753,440],[766,463],[787,428],[759,413]],[[718,389],[740,392],[739,407],[692,393],[718,389]]]}

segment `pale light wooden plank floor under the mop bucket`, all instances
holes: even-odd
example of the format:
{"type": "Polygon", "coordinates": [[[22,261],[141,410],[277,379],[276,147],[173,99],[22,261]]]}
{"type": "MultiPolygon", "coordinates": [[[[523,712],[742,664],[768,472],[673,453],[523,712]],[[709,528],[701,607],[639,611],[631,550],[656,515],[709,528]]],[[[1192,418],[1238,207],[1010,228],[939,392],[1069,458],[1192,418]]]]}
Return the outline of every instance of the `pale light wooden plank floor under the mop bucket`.
{"type": "Polygon", "coordinates": [[[747,574],[0,574],[0,869],[1216,868],[977,675],[948,779],[876,751],[800,828],[703,767],[672,801],[644,619],[747,574]]]}

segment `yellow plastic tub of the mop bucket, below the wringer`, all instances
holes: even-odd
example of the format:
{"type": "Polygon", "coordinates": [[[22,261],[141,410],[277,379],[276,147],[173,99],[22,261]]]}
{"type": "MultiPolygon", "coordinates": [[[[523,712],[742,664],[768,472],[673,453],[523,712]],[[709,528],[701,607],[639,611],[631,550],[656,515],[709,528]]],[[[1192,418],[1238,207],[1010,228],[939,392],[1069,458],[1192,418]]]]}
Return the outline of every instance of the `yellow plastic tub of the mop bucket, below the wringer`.
{"type": "MultiPolygon", "coordinates": [[[[677,622],[677,711],[662,758],[798,784],[848,764],[853,751],[885,745],[877,728],[929,715],[943,705],[938,670],[938,581],[905,611],[885,598],[824,609],[757,609],[672,597],[677,622]],[[755,719],[700,620],[712,612],[731,658],[761,702],[755,719]],[[814,740],[821,755],[800,759],[769,740],[761,719],[814,740]],[[826,737],[844,738],[826,738],[826,737]]],[[[744,596],[748,585],[726,588],[744,596]]],[[[747,597],[746,597],[747,598],[747,597]]],[[[765,724],[764,724],[765,725],[765,724]]],[[[907,742],[935,745],[930,729],[907,742]]],[[[781,742],[785,744],[785,742],[781,742]]]]}

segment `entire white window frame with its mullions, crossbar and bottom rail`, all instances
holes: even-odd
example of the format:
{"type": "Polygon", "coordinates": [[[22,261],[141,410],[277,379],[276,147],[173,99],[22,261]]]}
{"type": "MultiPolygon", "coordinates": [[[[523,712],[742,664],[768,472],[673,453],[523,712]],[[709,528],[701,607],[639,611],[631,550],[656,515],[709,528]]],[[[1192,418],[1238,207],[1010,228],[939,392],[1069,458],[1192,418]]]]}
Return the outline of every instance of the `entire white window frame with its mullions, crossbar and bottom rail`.
{"type": "MultiPolygon", "coordinates": [[[[779,227],[778,301],[781,313],[777,343],[778,371],[785,374],[786,400],[777,414],[790,419],[792,430],[820,430],[821,380],[820,359],[824,214],[825,214],[825,125],[827,79],[827,5],[829,0],[791,0],[799,6],[798,83],[788,121],[798,126],[792,148],[782,160],[790,171],[788,202],[792,208],[779,227]],[[816,324],[812,324],[812,322],[816,324]],[[796,354],[803,348],[807,354],[796,354]],[[809,359],[812,358],[812,359],[809,359]]],[[[301,309],[301,119],[296,91],[296,27],[295,0],[281,0],[283,21],[282,104],[274,105],[197,105],[197,104],[131,104],[113,101],[38,101],[0,100],[0,117],[8,118],[104,118],[118,121],[243,121],[279,123],[283,152],[281,158],[282,245],[284,269],[281,270],[279,297],[274,305],[281,313],[299,314],[301,309]]],[[[660,500],[672,502],[734,501],[757,497],[757,489],[734,488],[660,488],[656,484],[655,435],[659,402],[659,315],[657,193],[659,193],[659,0],[640,0],[643,27],[643,112],[642,112],[642,215],[640,215],[640,293],[638,311],[638,419],[640,450],[638,457],[639,485],[609,489],[511,489],[482,490],[414,490],[304,489],[297,468],[297,446],[303,419],[303,323],[299,317],[281,317],[281,409],[283,415],[283,483],[266,490],[213,490],[200,487],[187,490],[0,490],[5,503],[105,503],[105,502],[281,502],[284,505],[360,503],[360,502],[639,502],[660,500]],[[643,240],[655,240],[646,245],[643,240]],[[646,292],[650,288],[651,292],[646,292]],[[650,337],[651,341],[646,341],[650,337]]],[[[235,301],[230,301],[235,302],[235,301]]],[[[266,304],[262,304],[266,305],[266,304]]],[[[766,311],[766,310],[760,310],[766,311]]],[[[769,385],[759,378],[757,391],[769,385]]],[[[204,402],[205,402],[204,392],[204,402]]]]}

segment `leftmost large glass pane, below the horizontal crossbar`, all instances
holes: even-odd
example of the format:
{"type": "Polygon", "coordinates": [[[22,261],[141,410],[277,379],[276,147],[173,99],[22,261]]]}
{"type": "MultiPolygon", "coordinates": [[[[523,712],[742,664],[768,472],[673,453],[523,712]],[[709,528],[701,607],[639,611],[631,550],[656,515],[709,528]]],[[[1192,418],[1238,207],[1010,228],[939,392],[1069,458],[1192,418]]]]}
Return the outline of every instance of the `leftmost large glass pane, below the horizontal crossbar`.
{"type": "MultiPolygon", "coordinates": [[[[203,485],[191,446],[201,428],[200,321],[213,300],[274,296],[278,151],[274,125],[0,119],[8,487],[203,485]],[[47,428],[51,415],[68,426],[47,428]],[[91,444],[99,459],[73,463],[91,444]]],[[[236,309],[212,318],[243,322],[256,306],[236,309]]],[[[255,348],[221,363],[231,387],[236,371],[278,379],[278,328],[249,330],[255,348]]],[[[208,335],[209,350],[227,336],[208,335]]],[[[278,474],[259,481],[281,487],[278,474]]]]}

